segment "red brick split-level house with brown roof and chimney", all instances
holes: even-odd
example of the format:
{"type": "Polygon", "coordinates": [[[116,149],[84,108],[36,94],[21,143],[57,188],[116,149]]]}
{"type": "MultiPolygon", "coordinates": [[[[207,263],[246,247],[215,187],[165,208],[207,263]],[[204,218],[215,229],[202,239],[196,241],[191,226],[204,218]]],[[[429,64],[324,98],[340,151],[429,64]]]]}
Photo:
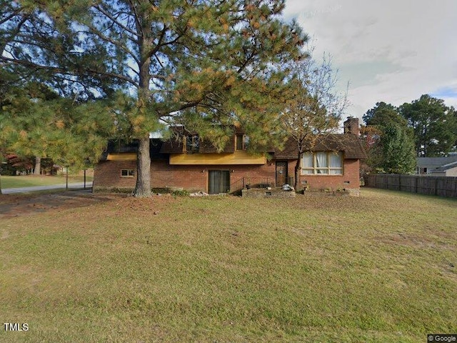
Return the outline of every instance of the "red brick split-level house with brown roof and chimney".
{"type": "MultiPolygon", "coordinates": [[[[320,136],[303,155],[300,184],[308,189],[359,189],[359,159],[366,153],[358,139],[357,118],[344,123],[344,134],[320,136]]],[[[151,187],[186,189],[209,194],[237,192],[243,187],[292,184],[298,152],[289,140],[285,149],[251,155],[249,140],[236,132],[217,152],[209,141],[188,134],[179,140],[151,139],[151,187]]],[[[133,189],[136,184],[137,144],[111,142],[94,172],[94,192],[133,189]]]]}

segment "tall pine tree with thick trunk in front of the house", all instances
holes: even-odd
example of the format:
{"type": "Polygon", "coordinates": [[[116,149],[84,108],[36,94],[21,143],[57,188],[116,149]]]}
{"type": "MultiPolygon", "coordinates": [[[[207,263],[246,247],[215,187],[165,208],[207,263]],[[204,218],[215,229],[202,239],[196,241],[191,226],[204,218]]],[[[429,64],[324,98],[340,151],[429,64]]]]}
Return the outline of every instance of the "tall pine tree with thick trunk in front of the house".
{"type": "MultiPolygon", "coordinates": [[[[191,126],[224,144],[242,124],[263,144],[283,104],[283,73],[306,40],[281,20],[284,0],[0,0],[1,64],[84,96],[134,94],[134,195],[151,194],[149,132],[191,126]],[[219,130],[219,131],[218,131],[219,130]]],[[[194,129],[191,127],[191,129],[194,129]]]]}

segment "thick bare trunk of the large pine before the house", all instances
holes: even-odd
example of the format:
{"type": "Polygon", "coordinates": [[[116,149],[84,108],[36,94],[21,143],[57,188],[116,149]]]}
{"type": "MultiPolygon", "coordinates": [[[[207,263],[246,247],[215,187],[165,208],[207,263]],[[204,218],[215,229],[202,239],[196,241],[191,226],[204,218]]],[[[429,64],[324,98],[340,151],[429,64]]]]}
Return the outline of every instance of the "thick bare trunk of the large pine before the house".
{"type": "Polygon", "coordinates": [[[136,187],[134,197],[151,197],[151,156],[149,156],[149,135],[139,140],[136,156],[136,187]]]}

